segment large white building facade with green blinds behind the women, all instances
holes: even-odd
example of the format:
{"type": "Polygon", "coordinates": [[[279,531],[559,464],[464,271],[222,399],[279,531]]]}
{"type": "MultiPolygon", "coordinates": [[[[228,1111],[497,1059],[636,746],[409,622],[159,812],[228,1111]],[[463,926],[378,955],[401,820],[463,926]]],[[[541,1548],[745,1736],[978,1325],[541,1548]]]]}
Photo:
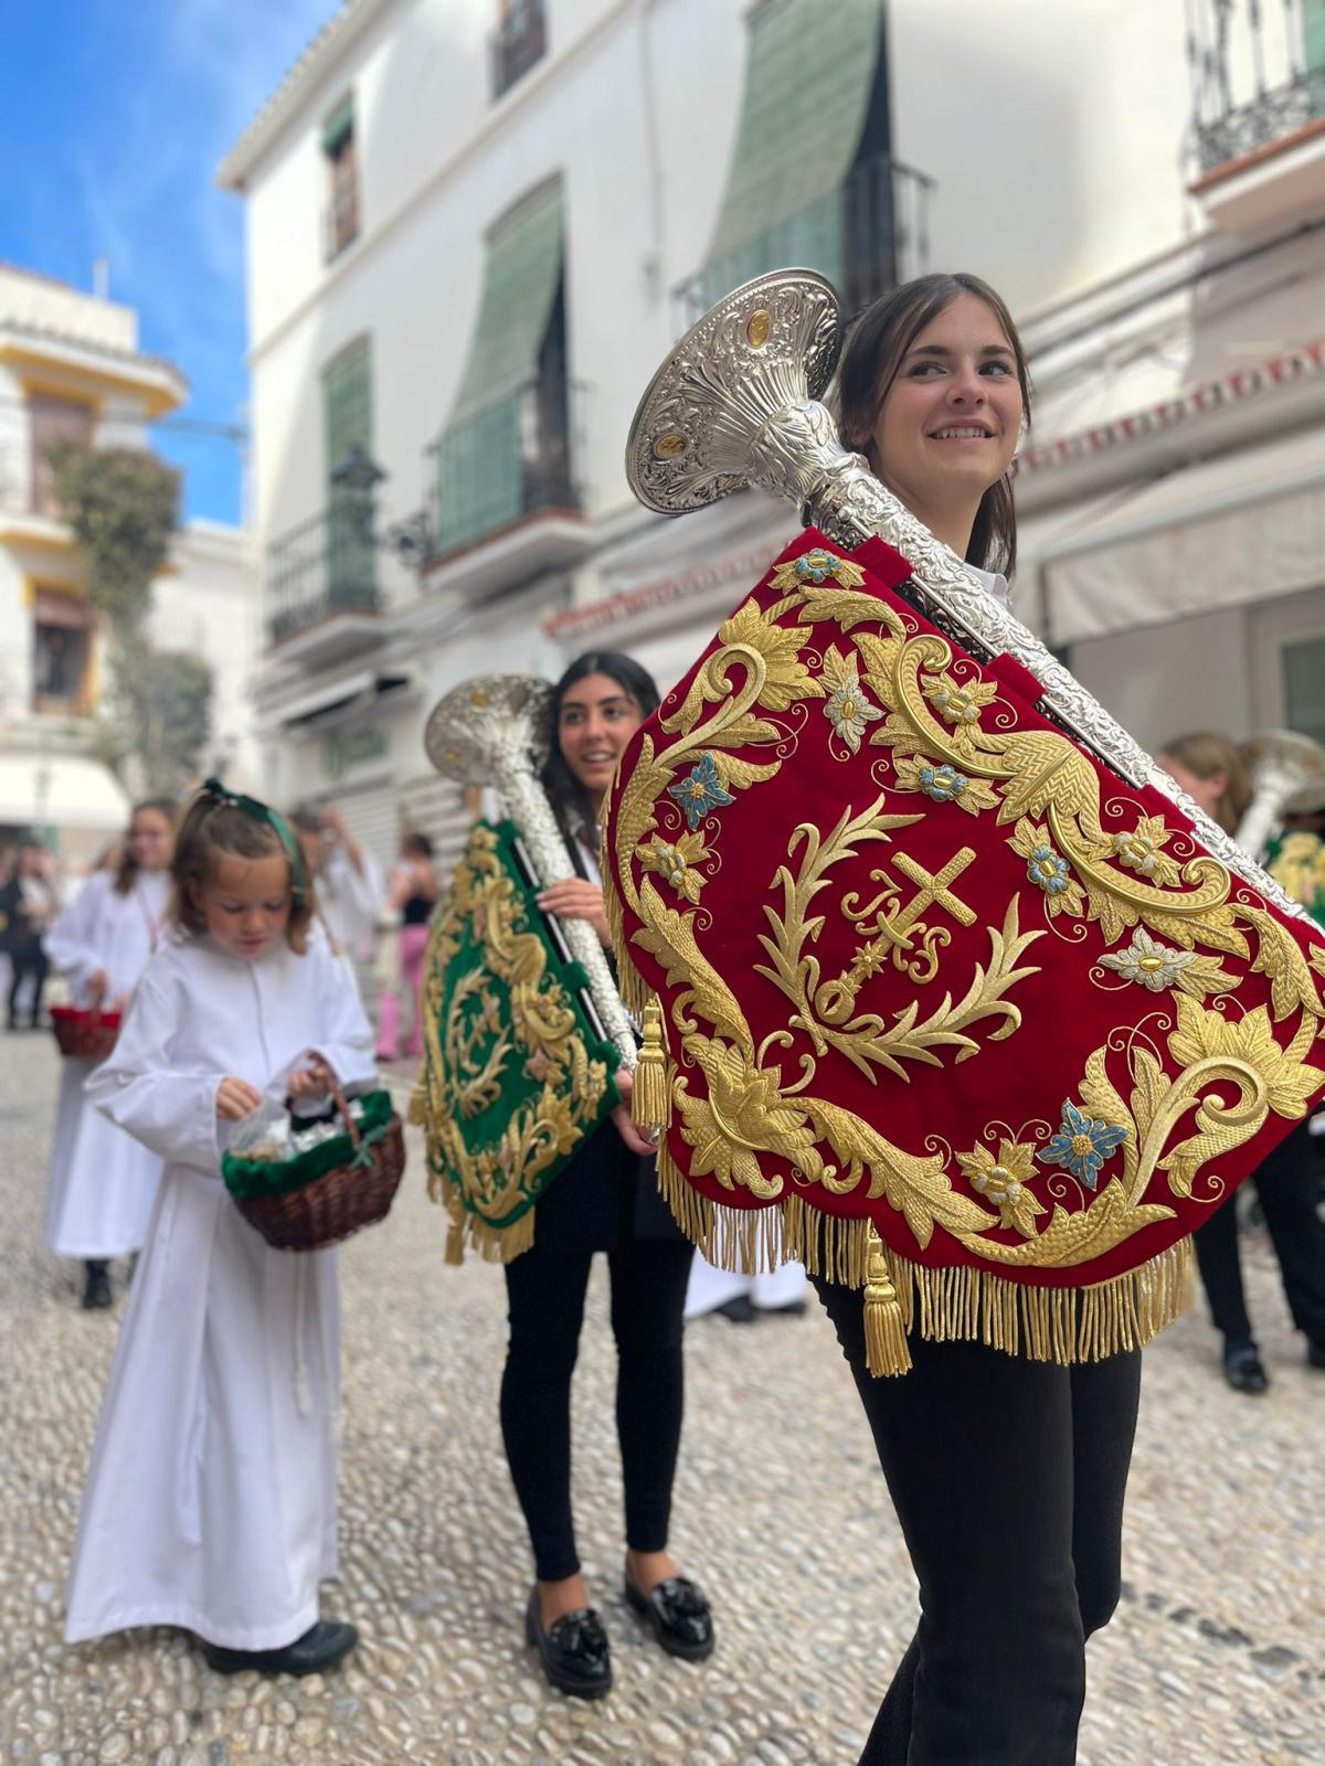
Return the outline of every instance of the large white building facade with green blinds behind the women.
{"type": "Polygon", "coordinates": [[[1041,392],[1019,611],[1143,740],[1325,733],[1323,62],[1321,0],[348,0],[221,171],[269,788],[383,855],[454,839],[449,687],[587,648],[675,680],[797,517],[650,517],[625,434],[689,318],[783,263],[848,313],[922,268],[1003,291],[1041,392]]]}

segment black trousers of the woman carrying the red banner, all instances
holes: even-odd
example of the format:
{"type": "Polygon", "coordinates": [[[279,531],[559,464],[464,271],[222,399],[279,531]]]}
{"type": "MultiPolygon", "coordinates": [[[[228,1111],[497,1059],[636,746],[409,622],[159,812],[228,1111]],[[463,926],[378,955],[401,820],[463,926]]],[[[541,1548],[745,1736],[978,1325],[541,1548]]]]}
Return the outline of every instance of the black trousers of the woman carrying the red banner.
{"type": "Polygon", "coordinates": [[[912,1339],[873,1379],[860,1293],[816,1280],[920,1582],[860,1766],[1072,1766],[1085,1641],[1118,1602],[1141,1355],[1055,1367],[912,1339]]]}

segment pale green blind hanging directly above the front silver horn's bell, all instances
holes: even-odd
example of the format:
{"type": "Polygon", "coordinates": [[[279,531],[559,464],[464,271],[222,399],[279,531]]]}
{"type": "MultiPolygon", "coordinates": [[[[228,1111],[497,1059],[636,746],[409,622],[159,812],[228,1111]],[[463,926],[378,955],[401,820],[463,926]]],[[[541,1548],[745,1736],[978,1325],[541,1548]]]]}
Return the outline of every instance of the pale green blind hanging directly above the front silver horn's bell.
{"type": "Polygon", "coordinates": [[[804,265],[841,283],[841,185],[866,127],[883,0],[763,0],[723,208],[703,272],[712,302],[751,275],[804,265]]]}

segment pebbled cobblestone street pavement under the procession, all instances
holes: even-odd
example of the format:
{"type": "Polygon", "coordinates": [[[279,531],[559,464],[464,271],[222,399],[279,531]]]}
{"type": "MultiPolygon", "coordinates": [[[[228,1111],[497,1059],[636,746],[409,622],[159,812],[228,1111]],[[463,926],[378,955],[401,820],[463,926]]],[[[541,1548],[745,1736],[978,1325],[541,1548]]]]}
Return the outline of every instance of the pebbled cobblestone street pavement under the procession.
{"type": "MultiPolygon", "coordinates": [[[[671,1662],[620,1596],[604,1284],[576,1386],[581,1551],[617,1688],[551,1694],[521,1639],[528,1552],[502,1459],[495,1268],[442,1263],[422,1158],[343,1252],[343,1581],[364,1632],[325,1679],[223,1679],[189,1639],[60,1641],[64,1577],[120,1303],[76,1305],[41,1243],[58,1056],[0,1040],[0,1750],[21,1766],[848,1766],[915,1596],[827,1321],[687,1335],[675,1551],[719,1626],[671,1662]]],[[[1302,1362],[1261,1249],[1249,1286],[1274,1388],[1238,1399],[1189,1314],[1147,1353],[1125,1595],[1090,1646],[1081,1766],[1325,1762],[1325,1376],[1302,1362]]],[[[118,1272],[117,1272],[118,1293],[118,1272]]],[[[998,1492],[972,1491],[996,1526],[998,1492]]]]}

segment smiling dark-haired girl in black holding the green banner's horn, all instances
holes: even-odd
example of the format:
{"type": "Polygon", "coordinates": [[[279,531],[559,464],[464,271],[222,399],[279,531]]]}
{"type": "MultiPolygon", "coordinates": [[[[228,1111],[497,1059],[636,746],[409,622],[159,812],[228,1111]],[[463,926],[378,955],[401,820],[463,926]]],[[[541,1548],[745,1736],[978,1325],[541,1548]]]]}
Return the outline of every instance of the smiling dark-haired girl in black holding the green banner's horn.
{"type": "MultiPolygon", "coordinates": [[[[597,871],[597,811],[617,759],[657,706],[652,678],[622,655],[578,657],[551,701],[544,786],[576,876],[539,902],[608,925],[597,871]]],[[[625,1598],[671,1655],[714,1648],[708,1602],[668,1554],[682,1422],[682,1309],[691,1247],[657,1194],[654,1162],[604,1123],[537,1206],[534,1247],[505,1266],[511,1339],[502,1436],[534,1547],[526,1635],[553,1687],[599,1697],[611,1687],[608,1635],[588,1604],[571,1515],[571,1376],[594,1254],[608,1254],[617,1339],[617,1434],[625,1483],[625,1598]]]]}

